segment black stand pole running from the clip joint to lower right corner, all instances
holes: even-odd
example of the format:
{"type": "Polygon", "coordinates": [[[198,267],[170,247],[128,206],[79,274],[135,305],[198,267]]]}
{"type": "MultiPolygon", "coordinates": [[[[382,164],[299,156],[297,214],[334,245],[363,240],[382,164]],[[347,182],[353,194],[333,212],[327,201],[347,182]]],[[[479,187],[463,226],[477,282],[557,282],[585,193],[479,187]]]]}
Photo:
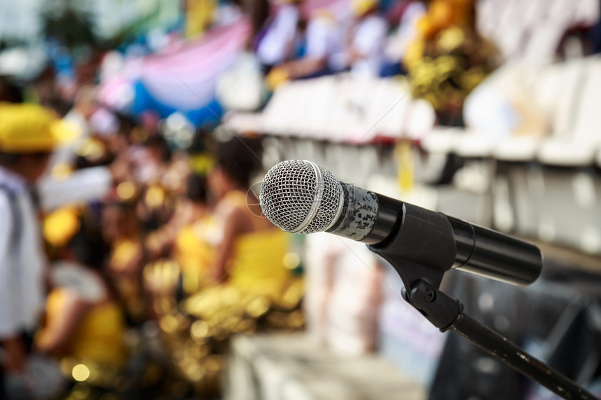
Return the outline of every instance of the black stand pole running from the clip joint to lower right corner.
{"type": "Polygon", "coordinates": [[[420,311],[442,332],[453,330],[482,350],[487,351],[516,371],[540,383],[564,399],[597,399],[551,366],[537,360],[519,346],[508,341],[463,312],[463,305],[426,281],[416,281],[408,297],[410,304],[420,311]]]}

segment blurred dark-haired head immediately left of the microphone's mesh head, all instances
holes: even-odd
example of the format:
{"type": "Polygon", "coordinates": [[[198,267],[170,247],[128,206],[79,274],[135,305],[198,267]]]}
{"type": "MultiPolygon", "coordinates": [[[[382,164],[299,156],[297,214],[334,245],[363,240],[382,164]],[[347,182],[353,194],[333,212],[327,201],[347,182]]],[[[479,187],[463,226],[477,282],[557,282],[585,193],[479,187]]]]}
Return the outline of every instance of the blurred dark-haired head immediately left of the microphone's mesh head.
{"type": "Polygon", "coordinates": [[[239,136],[219,142],[215,161],[215,168],[208,175],[212,195],[222,198],[233,189],[247,190],[261,168],[261,142],[239,136]]]}

